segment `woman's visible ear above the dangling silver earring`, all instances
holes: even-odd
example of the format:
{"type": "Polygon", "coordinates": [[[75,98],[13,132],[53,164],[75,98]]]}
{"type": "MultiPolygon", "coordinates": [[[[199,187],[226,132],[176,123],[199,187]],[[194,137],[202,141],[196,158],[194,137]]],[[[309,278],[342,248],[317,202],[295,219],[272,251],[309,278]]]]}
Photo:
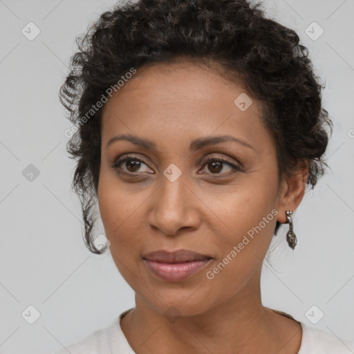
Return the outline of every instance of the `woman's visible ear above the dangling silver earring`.
{"type": "Polygon", "coordinates": [[[299,165],[296,171],[286,176],[281,181],[281,189],[278,200],[278,215],[279,223],[286,223],[286,210],[295,212],[305,194],[306,180],[308,178],[308,162],[299,165]]]}

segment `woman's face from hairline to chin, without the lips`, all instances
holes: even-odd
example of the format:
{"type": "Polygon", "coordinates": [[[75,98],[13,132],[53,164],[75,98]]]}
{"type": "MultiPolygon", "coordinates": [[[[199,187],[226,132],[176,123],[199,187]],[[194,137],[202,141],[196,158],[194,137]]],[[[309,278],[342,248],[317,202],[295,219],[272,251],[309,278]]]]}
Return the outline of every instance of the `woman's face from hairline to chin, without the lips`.
{"type": "Polygon", "coordinates": [[[204,313],[259,282],[279,180],[261,106],[248,100],[241,85],[175,63],[138,69],[104,106],[102,223],[122,277],[160,312],[204,313]],[[211,259],[188,277],[162,279],[143,259],[156,250],[211,259]]]}

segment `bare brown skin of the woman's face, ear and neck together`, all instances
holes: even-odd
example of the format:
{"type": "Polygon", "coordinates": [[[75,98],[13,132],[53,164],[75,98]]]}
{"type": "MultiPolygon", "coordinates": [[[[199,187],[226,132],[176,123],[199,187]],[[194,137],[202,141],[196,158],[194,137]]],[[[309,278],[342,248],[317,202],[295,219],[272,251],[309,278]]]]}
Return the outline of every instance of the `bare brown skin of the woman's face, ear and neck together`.
{"type": "Polygon", "coordinates": [[[260,279],[276,221],[286,223],[285,211],[294,212],[301,202],[308,170],[278,180],[277,152],[261,121],[261,104],[252,98],[246,111],[234,104],[244,92],[241,83],[205,66],[157,64],[139,68],[104,106],[98,203],[113,260],[136,292],[136,307],[121,328],[138,354],[299,351],[300,324],[261,304],[260,279]],[[127,140],[106,147],[118,134],[149,139],[156,151],[127,140]],[[189,151],[196,138],[223,135],[253,149],[229,141],[189,151]],[[119,169],[127,175],[120,175],[111,165],[128,155],[143,162],[133,168],[123,162],[119,169]],[[231,174],[225,162],[219,169],[204,163],[216,156],[241,170],[231,174]],[[172,163],[182,173],[174,182],[163,174],[172,163]],[[207,271],[272,209],[277,216],[207,279],[207,271]],[[142,254],[160,249],[214,259],[189,279],[171,283],[142,260],[142,254]],[[171,306],[179,315],[173,322],[165,316],[171,306]]]}

